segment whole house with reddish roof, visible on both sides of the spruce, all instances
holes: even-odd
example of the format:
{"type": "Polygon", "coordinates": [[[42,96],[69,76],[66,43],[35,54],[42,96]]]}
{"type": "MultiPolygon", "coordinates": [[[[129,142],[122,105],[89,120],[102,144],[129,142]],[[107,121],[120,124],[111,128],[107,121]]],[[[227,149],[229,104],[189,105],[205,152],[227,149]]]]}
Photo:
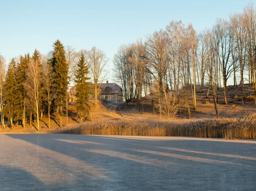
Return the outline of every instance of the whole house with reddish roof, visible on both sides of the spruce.
{"type": "MultiPolygon", "coordinates": [[[[98,99],[109,100],[109,101],[124,100],[122,88],[118,86],[116,83],[108,83],[108,80],[107,80],[106,83],[98,84],[98,86],[101,87],[101,94],[99,95],[98,99]]],[[[76,86],[73,86],[72,88],[70,88],[68,95],[69,95],[70,102],[76,101],[76,86]]]]}

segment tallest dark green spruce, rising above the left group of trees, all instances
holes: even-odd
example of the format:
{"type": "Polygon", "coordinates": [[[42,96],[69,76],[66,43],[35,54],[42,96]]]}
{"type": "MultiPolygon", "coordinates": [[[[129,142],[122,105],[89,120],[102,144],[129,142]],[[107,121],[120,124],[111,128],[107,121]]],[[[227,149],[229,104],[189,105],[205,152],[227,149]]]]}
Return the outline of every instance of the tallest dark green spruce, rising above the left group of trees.
{"type": "Polygon", "coordinates": [[[67,97],[68,89],[68,68],[65,57],[65,49],[60,40],[56,40],[53,44],[51,63],[54,78],[53,93],[56,97],[56,99],[54,100],[54,105],[57,111],[57,118],[59,117],[60,113],[60,126],[62,126],[61,117],[63,114],[63,109],[65,107],[65,100],[67,97]]]}

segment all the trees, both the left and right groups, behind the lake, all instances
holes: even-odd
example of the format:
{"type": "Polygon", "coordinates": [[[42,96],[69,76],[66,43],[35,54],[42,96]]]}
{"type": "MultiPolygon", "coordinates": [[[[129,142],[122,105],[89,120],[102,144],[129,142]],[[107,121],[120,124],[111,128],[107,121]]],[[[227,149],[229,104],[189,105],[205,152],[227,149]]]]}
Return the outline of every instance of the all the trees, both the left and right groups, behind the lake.
{"type": "MultiPolygon", "coordinates": [[[[11,128],[14,123],[25,127],[35,118],[39,130],[39,118],[47,114],[50,121],[52,113],[58,125],[64,125],[71,82],[76,84],[78,114],[89,114],[97,104],[101,92],[97,84],[104,80],[107,63],[104,51],[96,47],[77,52],[59,40],[47,55],[35,50],[32,55],[12,58],[8,67],[0,55],[2,127],[6,122],[11,128]]],[[[126,103],[143,104],[143,96],[151,95],[152,112],[157,107],[161,117],[169,118],[184,99],[190,117],[189,96],[197,110],[196,94],[207,89],[218,118],[218,91],[223,88],[227,104],[228,80],[241,88],[242,104],[244,83],[249,83],[256,103],[256,9],[248,4],[243,12],[230,14],[229,20],[218,18],[212,29],[200,33],[192,24],[172,21],[144,40],[120,46],[113,64],[126,103]]]]}

